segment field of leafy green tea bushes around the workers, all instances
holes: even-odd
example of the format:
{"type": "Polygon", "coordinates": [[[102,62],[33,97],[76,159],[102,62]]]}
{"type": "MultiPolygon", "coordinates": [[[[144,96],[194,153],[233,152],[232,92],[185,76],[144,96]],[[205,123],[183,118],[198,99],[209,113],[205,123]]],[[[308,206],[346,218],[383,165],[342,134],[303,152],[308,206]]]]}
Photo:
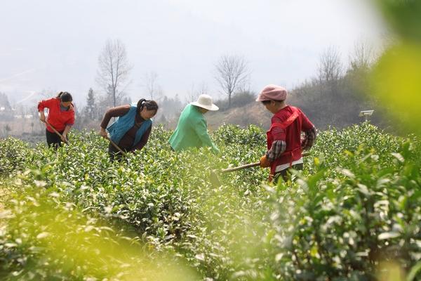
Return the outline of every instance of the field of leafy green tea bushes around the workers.
{"type": "Polygon", "coordinates": [[[257,161],[265,133],[222,126],[220,155],[172,152],[170,134],[154,129],[121,163],[93,132],[57,152],[1,140],[1,279],[420,278],[417,138],[329,129],[295,182],[267,185],[255,168],[220,174],[215,188],[210,170],[257,161]]]}

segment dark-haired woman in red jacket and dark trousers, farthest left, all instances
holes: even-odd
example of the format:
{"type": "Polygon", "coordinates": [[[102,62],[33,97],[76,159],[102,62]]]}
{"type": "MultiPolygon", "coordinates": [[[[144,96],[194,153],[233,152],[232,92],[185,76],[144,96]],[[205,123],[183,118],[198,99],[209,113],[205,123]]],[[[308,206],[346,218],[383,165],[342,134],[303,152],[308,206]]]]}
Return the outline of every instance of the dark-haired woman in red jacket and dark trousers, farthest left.
{"type": "Polygon", "coordinates": [[[55,98],[48,100],[41,100],[38,103],[38,111],[40,113],[39,119],[42,122],[46,122],[46,115],[44,115],[44,108],[48,108],[47,122],[54,127],[62,138],[58,136],[51,126],[46,124],[46,138],[48,146],[58,148],[61,146],[61,142],[67,142],[67,133],[74,124],[74,107],[72,104],[72,95],[67,92],[60,92],[55,98]]]}

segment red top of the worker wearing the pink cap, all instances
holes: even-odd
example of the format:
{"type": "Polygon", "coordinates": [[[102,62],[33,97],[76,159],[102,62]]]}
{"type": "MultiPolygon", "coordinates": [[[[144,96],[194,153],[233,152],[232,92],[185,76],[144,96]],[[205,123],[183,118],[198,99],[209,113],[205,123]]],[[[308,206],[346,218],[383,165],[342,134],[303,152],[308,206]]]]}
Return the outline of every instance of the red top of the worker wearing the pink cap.
{"type": "Polygon", "coordinates": [[[272,126],[267,131],[267,149],[272,148],[274,141],[285,141],[286,149],[271,165],[271,174],[275,173],[276,166],[292,163],[302,157],[301,131],[313,128],[312,122],[298,107],[287,105],[272,117],[272,126]],[[279,133],[274,132],[278,127],[279,133]]]}

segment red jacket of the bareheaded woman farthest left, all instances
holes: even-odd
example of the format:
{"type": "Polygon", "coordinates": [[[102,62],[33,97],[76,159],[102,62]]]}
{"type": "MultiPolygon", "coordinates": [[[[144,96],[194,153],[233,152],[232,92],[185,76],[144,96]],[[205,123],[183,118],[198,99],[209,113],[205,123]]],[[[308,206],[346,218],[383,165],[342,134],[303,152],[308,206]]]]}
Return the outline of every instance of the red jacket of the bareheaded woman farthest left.
{"type": "MultiPolygon", "coordinates": [[[[38,103],[38,111],[44,111],[48,108],[47,122],[51,124],[57,131],[64,131],[66,126],[74,124],[74,110],[73,105],[69,110],[60,110],[60,98],[50,98],[49,100],[41,100],[38,103]]],[[[46,126],[48,131],[54,133],[50,126],[46,126]]]]}

